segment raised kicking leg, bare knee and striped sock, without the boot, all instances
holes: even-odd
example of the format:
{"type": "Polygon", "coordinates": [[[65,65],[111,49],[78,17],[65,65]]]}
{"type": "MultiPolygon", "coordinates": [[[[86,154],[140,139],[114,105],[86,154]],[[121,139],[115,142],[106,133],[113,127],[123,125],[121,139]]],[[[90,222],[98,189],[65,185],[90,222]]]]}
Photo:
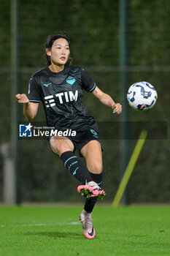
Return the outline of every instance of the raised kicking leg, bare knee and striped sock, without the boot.
{"type": "Polygon", "coordinates": [[[52,151],[61,157],[64,167],[82,184],[93,181],[85,164],[73,153],[74,144],[66,137],[53,136],[50,139],[52,151]]]}

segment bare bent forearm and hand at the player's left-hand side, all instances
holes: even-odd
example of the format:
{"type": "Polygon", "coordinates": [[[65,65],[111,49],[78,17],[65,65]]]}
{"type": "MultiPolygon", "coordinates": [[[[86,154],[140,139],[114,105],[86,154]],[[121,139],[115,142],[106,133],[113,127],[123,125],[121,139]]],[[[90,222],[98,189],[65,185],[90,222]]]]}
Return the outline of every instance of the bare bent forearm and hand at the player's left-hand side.
{"type": "Polygon", "coordinates": [[[23,114],[26,116],[28,121],[33,121],[39,108],[38,102],[29,102],[26,94],[15,95],[18,103],[23,103],[23,114]]]}

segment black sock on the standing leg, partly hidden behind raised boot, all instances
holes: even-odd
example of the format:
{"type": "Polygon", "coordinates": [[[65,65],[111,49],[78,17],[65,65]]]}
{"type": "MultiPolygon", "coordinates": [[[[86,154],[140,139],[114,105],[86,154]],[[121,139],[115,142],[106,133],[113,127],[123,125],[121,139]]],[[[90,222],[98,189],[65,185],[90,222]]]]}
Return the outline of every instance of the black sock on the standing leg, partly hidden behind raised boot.
{"type": "MultiPolygon", "coordinates": [[[[90,172],[89,172],[90,173],[90,172]]],[[[94,174],[94,173],[90,173],[91,178],[93,178],[93,181],[95,181],[98,186],[101,186],[102,183],[102,173],[100,174],[94,174]]],[[[88,212],[88,214],[90,214],[93,211],[93,208],[96,204],[97,198],[96,197],[90,197],[89,199],[87,198],[85,200],[85,207],[84,210],[88,212]]]]}

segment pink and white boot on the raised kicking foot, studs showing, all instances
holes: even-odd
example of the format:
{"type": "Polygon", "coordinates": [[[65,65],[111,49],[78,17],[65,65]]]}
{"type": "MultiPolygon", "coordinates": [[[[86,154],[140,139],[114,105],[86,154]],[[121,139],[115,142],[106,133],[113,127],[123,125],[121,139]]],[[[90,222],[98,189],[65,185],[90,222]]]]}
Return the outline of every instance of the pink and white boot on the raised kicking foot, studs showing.
{"type": "Polygon", "coordinates": [[[77,187],[77,191],[80,193],[80,195],[85,196],[85,197],[97,197],[98,199],[103,199],[104,195],[106,193],[104,192],[101,187],[96,184],[94,181],[90,181],[86,183],[85,185],[80,185],[77,187]]]}

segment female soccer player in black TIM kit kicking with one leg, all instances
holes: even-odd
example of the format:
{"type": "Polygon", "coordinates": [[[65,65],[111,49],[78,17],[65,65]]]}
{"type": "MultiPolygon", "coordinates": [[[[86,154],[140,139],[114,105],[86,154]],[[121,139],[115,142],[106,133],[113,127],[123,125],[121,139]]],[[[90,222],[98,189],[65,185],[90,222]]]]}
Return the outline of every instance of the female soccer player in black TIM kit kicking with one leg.
{"type": "Polygon", "coordinates": [[[34,120],[42,101],[48,127],[76,131],[75,136],[52,136],[50,147],[66,169],[82,183],[77,191],[87,198],[80,221],[85,237],[94,238],[91,214],[97,198],[104,196],[104,190],[99,187],[102,183],[102,153],[96,121],[82,105],[82,90],[92,93],[117,114],[121,113],[122,106],[98,89],[88,72],[71,65],[70,40],[65,34],[47,37],[46,55],[48,65],[32,75],[28,97],[26,94],[15,97],[23,103],[23,113],[29,121],[34,120]],[[75,149],[85,158],[86,165],[74,154],[75,149]]]}

